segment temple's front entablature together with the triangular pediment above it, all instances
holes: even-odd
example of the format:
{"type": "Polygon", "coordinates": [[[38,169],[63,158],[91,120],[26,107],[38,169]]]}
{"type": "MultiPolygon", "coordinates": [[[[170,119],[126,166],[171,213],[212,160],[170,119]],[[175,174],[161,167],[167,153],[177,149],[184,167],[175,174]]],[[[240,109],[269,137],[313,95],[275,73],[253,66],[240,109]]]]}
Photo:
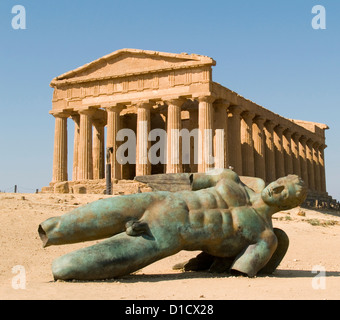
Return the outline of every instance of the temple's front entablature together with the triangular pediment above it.
{"type": "Polygon", "coordinates": [[[215,64],[198,55],[118,50],[53,79],[53,109],[209,94],[215,64]]]}

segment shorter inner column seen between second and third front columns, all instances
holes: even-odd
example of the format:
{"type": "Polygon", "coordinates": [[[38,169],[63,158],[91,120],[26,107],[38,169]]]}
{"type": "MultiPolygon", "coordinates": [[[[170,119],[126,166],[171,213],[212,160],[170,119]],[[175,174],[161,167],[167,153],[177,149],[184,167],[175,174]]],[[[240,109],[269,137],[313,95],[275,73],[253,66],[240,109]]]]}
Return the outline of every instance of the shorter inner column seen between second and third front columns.
{"type": "Polygon", "coordinates": [[[104,121],[93,121],[93,179],[105,178],[104,121]]]}

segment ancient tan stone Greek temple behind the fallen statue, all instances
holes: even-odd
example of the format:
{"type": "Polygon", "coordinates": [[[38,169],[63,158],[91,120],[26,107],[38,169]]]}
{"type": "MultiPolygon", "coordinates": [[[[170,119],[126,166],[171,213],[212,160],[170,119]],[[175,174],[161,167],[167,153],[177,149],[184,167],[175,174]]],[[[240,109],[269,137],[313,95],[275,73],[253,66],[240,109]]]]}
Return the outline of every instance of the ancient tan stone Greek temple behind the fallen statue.
{"type": "Polygon", "coordinates": [[[122,49],[53,79],[51,185],[105,179],[109,162],[115,181],[231,167],[266,182],[294,173],[311,191],[326,193],[327,125],[287,119],[243,98],[212,80],[215,65],[197,54],[122,49]],[[74,141],[68,141],[69,121],[74,141]],[[117,150],[127,140],[121,129],[135,134],[129,155],[135,161],[120,161],[117,150]],[[148,157],[160,141],[150,135],[154,129],[166,133],[158,163],[148,157]]]}

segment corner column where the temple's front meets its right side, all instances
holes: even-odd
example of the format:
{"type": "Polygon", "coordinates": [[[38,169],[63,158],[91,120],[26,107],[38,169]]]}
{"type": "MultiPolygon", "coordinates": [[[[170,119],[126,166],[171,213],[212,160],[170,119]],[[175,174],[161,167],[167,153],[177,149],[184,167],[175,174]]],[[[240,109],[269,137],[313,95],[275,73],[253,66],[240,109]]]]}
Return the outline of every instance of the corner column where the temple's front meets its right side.
{"type": "Polygon", "coordinates": [[[198,98],[198,172],[207,172],[214,167],[213,158],[213,125],[214,109],[212,97],[198,98]]]}

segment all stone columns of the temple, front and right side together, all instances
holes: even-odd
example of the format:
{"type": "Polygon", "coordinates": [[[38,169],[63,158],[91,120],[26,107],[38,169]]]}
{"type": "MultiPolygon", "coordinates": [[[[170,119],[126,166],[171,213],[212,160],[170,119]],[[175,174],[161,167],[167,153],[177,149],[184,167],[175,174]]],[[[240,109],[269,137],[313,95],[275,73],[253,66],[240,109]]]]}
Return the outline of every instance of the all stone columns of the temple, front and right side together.
{"type": "MultiPolygon", "coordinates": [[[[292,132],[272,120],[230,106],[227,101],[210,96],[198,100],[198,172],[212,168],[233,167],[239,175],[256,176],[271,182],[287,174],[302,177],[311,190],[326,192],[324,145],[292,132]]],[[[164,101],[167,105],[167,173],[182,172],[183,99],[164,101]]],[[[142,101],[137,108],[136,176],[151,174],[148,159],[150,148],[151,109],[153,104],[142,101]]],[[[124,105],[106,107],[107,122],[93,117],[96,109],[81,110],[71,115],[75,123],[73,180],[105,177],[104,127],[107,126],[106,147],[111,152],[112,178],[121,179],[117,161],[117,134],[124,105]]],[[[67,181],[67,118],[70,114],[55,113],[53,182],[67,181]]]]}

